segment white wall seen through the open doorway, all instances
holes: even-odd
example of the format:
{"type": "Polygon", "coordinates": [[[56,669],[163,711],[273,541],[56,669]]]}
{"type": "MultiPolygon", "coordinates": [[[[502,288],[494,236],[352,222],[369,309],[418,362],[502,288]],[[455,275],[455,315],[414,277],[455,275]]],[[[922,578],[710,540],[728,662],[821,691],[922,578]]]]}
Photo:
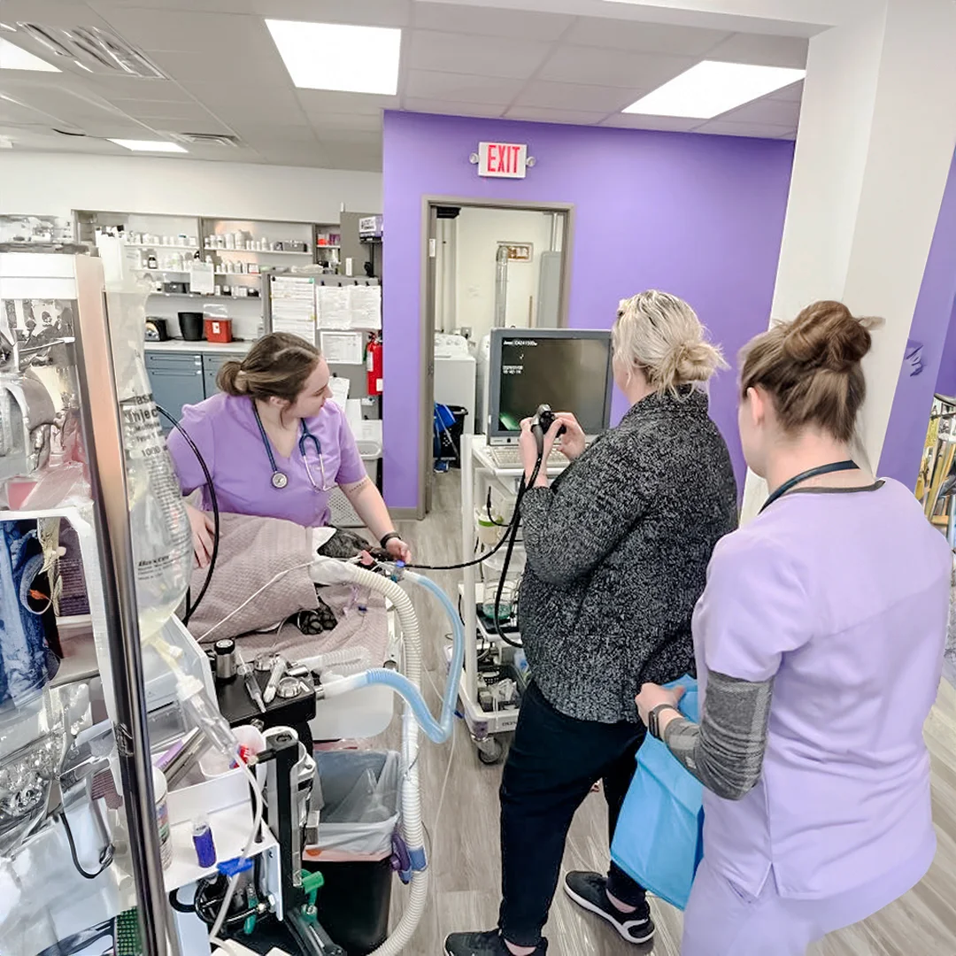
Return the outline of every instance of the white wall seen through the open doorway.
{"type": "Polygon", "coordinates": [[[531,262],[511,262],[508,270],[506,324],[528,325],[537,309],[541,252],[551,248],[551,214],[521,209],[466,206],[457,219],[457,320],[470,327],[472,341],[481,341],[494,323],[495,253],[499,242],[532,243],[531,262]]]}

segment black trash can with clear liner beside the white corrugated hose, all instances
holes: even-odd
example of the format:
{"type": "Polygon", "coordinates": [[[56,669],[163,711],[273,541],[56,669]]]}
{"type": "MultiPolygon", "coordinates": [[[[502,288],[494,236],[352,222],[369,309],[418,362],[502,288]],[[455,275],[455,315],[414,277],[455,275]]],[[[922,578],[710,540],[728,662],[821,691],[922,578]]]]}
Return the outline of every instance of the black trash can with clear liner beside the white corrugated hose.
{"type": "Polygon", "coordinates": [[[302,854],[320,870],[318,920],[349,956],[365,956],[388,936],[392,835],[399,825],[401,755],[379,750],[319,750],[318,842],[302,854]]]}

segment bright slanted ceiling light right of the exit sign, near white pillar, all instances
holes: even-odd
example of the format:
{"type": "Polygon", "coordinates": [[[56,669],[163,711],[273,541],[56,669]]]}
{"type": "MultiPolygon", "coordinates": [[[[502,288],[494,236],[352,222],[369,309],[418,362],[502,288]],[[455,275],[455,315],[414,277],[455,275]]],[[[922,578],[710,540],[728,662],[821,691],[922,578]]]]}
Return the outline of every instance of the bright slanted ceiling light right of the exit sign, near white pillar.
{"type": "Polygon", "coordinates": [[[779,66],[704,60],[631,103],[623,112],[712,120],[734,107],[790,86],[806,75],[806,70],[779,66]]]}

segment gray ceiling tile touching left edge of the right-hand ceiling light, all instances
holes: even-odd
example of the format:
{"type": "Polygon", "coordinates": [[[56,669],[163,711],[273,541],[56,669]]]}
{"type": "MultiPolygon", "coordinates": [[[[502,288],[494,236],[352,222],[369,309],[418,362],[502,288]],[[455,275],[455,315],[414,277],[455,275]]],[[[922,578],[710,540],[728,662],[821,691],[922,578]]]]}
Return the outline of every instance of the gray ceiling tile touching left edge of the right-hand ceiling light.
{"type": "Polygon", "coordinates": [[[618,86],[635,94],[657,89],[693,66],[689,56],[630,54],[594,47],[558,47],[538,73],[539,79],[590,86],[618,86]]]}

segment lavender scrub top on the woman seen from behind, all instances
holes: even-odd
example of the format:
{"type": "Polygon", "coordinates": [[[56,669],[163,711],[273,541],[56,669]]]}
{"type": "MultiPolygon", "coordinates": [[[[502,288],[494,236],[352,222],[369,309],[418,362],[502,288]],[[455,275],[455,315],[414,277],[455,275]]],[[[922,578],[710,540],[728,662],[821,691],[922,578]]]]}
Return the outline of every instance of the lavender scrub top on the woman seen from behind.
{"type": "Polygon", "coordinates": [[[822,900],[936,849],[923,723],[942,672],[952,555],[895,481],[793,491],[714,551],[694,614],[707,671],[773,679],[763,772],[705,791],[704,853],[745,893],[822,900]]]}

